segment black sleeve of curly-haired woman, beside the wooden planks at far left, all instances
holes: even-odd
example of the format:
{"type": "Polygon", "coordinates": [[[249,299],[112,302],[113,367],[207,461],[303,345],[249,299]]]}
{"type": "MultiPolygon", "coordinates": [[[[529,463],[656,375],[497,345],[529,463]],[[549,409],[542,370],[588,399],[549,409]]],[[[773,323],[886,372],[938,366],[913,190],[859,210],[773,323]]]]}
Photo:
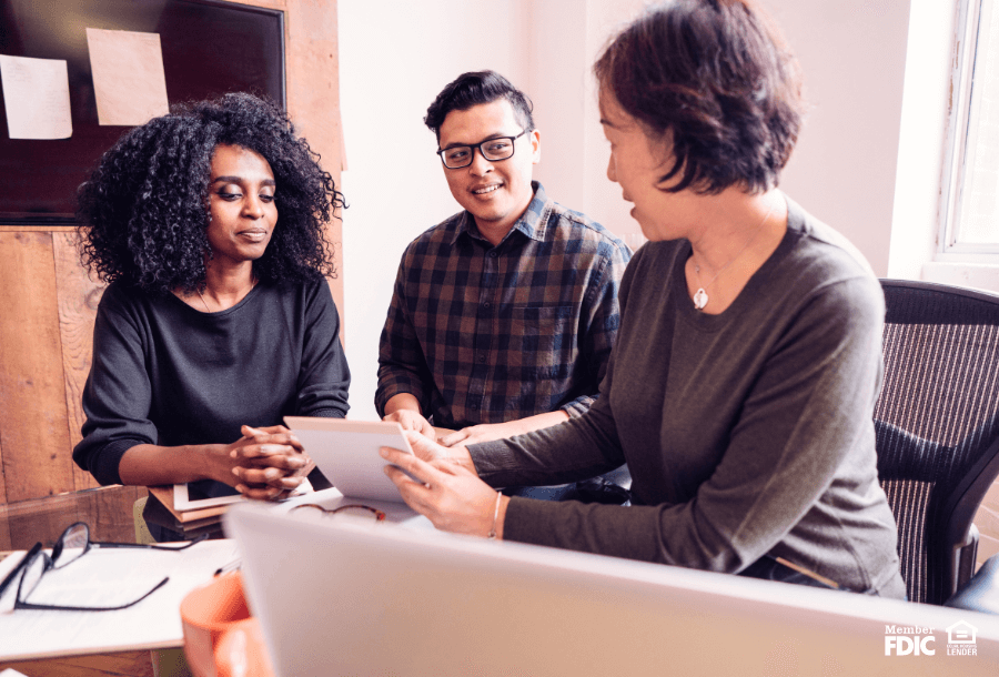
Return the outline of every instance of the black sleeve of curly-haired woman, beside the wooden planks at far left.
{"type": "Polygon", "coordinates": [[[157,444],[149,420],[152,388],[142,327],[123,295],[109,286],[93,325],[93,358],[83,387],[83,439],[73,461],[102,485],[120,484],[118,464],[138,444],[157,444]]]}

